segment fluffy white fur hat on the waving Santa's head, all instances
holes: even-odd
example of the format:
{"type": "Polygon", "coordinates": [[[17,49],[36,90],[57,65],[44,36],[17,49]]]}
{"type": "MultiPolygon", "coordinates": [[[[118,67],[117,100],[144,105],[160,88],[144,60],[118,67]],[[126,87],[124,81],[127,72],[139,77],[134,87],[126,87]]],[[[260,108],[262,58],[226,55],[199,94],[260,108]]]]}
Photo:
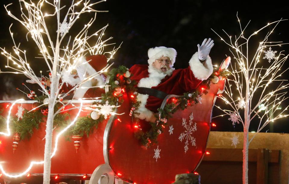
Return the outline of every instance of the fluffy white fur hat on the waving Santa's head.
{"type": "Polygon", "coordinates": [[[171,59],[171,66],[174,65],[176,60],[177,51],[174,48],[167,47],[155,47],[148,50],[148,63],[151,65],[155,62],[156,59],[161,58],[162,56],[169,57],[171,59]]]}

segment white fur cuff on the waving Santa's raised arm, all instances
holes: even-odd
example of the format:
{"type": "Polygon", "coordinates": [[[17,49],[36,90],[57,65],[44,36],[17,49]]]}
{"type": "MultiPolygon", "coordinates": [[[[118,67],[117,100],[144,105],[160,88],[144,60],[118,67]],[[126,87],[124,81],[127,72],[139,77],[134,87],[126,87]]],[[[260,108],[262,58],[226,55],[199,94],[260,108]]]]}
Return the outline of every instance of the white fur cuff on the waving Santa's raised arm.
{"type": "Polygon", "coordinates": [[[206,58],[204,65],[199,60],[199,54],[196,52],[189,61],[194,76],[199,80],[206,80],[213,73],[212,59],[210,56],[206,58]]]}

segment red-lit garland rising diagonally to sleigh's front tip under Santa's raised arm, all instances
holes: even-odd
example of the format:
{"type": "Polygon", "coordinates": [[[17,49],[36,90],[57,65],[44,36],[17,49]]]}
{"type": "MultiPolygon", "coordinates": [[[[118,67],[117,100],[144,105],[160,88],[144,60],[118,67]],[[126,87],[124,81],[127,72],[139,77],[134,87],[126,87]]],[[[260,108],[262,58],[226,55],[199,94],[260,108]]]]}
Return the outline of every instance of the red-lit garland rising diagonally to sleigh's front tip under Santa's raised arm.
{"type": "Polygon", "coordinates": [[[149,122],[151,125],[151,129],[148,132],[143,132],[141,128],[138,128],[135,132],[135,137],[140,140],[143,148],[148,148],[152,144],[156,144],[158,135],[163,131],[163,128],[166,125],[166,122],[172,115],[179,109],[186,109],[189,106],[193,106],[196,103],[199,103],[198,98],[202,97],[203,94],[207,94],[210,89],[210,85],[212,84],[212,79],[217,76],[221,76],[222,78],[227,78],[227,75],[231,74],[231,72],[227,70],[219,71],[218,69],[214,69],[212,75],[207,79],[202,81],[199,87],[192,92],[184,93],[183,96],[178,98],[171,98],[170,101],[165,105],[163,109],[158,109],[160,113],[160,117],[156,116],[159,119],[157,122],[149,122]],[[203,89],[202,89],[203,88],[203,89]]]}

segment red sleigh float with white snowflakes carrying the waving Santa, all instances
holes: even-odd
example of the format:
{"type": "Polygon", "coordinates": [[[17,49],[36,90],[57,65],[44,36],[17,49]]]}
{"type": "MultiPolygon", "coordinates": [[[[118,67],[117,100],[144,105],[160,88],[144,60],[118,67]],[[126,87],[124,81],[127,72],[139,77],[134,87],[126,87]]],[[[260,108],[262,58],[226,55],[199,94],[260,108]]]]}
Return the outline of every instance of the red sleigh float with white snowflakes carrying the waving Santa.
{"type": "MultiPolygon", "coordinates": [[[[175,112],[173,117],[168,119],[164,132],[158,136],[158,143],[146,150],[141,148],[140,141],[134,137],[134,122],[129,116],[131,107],[128,97],[124,95],[124,103],[116,113],[125,112],[125,114],[112,115],[99,123],[98,128],[89,137],[84,136],[80,140],[78,153],[75,151],[74,142],[66,141],[64,136],[60,136],[56,154],[51,159],[51,175],[59,178],[86,177],[86,179],[90,178],[90,184],[113,184],[123,183],[123,181],[137,184],[174,182],[176,174],[195,171],[204,157],[210,132],[212,107],[216,95],[222,93],[224,87],[223,80],[212,84],[208,94],[203,95],[201,104],[175,112]]],[[[175,96],[168,95],[161,108],[171,97],[175,96]]],[[[25,101],[22,106],[30,110],[32,102],[25,101]]],[[[11,105],[9,102],[0,103],[1,108],[4,109],[2,113],[4,117],[7,117],[9,105],[11,105]]],[[[14,105],[11,114],[17,112],[18,105],[14,105]]],[[[76,115],[77,109],[69,113],[76,115]]],[[[80,116],[86,115],[87,112],[80,114],[80,116]]],[[[53,148],[57,134],[58,130],[54,130],[53,148]]],[[[45,124],[40,123],[39,129],[34,130],[29,140],[21,140],[14,154],[12,144],[15,143],[12,136],[0,135],[2,177],[6,179],[11,178],[5,174],[23,173],[30,166],[31,161],[43,160],[45,124]]],[[[36,176],[42,173],[43,164],[34,164],[22,177],[26,177],[27,174],[36,176]]]]}

